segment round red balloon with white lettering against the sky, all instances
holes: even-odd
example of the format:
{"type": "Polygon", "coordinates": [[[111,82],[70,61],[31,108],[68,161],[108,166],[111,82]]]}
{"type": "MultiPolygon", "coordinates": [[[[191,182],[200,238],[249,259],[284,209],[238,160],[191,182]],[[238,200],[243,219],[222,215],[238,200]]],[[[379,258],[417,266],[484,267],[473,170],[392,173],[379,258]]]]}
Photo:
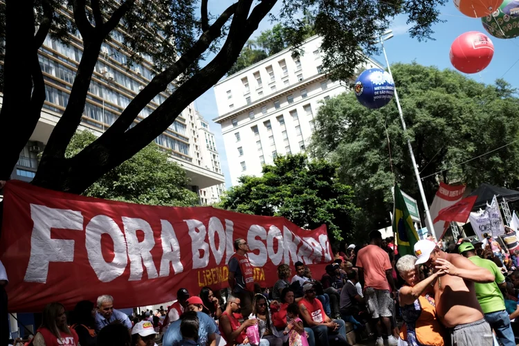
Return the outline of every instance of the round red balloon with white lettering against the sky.
{"type": "Polygon", "coordinates": [[[450,46],[450,62],[464,73],[477,73],[489,66],[494,45],[488,36],[477,31],[459,35],[450,46]]]}

